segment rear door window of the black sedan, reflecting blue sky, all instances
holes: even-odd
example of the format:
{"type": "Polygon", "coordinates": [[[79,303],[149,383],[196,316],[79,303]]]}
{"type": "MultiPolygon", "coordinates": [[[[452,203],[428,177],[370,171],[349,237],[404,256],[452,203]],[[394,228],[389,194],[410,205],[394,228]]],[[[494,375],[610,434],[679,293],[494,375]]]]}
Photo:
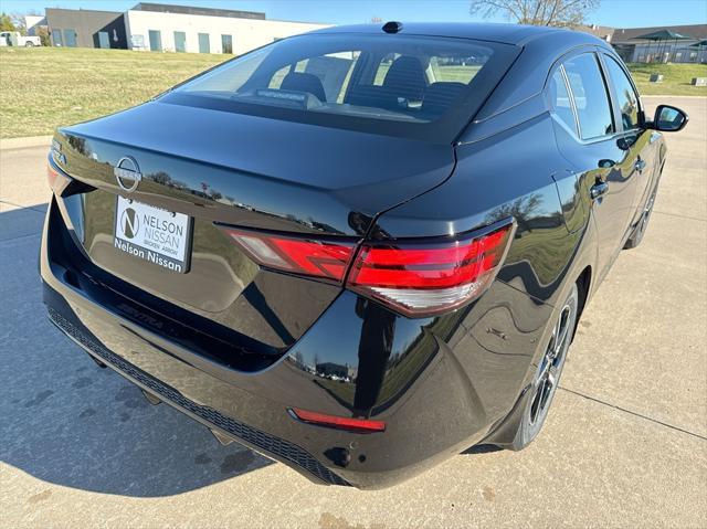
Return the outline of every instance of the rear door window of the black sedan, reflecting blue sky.
{"type": "Polygon", "coordinates": [[[606,87],[593,53],[584,53],[564,61],[582,139],[614,133],[606,87]]]}

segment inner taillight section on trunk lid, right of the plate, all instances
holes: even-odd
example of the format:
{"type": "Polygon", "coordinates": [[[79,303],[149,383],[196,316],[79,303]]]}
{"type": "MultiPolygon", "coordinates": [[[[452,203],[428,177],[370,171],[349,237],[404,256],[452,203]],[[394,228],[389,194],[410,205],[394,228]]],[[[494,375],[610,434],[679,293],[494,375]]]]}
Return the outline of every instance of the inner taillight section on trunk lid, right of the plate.
{"type": "Polygon", "coordinates": [[[344,281],[354,255],[354,243],[295,239],[260,232],[225,229],[256,263],[313,277],[344,281]]]}

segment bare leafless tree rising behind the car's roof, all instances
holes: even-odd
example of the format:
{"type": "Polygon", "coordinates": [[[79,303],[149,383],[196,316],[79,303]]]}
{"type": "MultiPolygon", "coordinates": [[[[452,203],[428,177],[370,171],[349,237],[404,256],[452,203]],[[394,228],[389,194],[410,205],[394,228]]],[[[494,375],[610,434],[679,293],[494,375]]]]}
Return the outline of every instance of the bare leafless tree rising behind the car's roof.
{"type": "Polygon", "coordinates": [[[472,0],[471,13],[503,14],[519,24],[573,27],[584,22],[600,0],[472,0]]]}

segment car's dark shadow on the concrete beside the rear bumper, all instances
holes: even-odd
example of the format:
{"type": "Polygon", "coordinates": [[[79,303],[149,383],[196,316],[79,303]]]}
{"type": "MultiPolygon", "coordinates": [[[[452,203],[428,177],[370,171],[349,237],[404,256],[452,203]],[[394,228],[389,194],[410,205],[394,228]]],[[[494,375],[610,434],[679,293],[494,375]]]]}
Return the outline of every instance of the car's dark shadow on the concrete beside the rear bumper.
{"type": "Polygon", "coordinates": [[[270,464],[167,404],[150,405],[46,318],[41,207],[0,213],[0,458],[39,479],[105,494],[168,496],[270,464]]]}

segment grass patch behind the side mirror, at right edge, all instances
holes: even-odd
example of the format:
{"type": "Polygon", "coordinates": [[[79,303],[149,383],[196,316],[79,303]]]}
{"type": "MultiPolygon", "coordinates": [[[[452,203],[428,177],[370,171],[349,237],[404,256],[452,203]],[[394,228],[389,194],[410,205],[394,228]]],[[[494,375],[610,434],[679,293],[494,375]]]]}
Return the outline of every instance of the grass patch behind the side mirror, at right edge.
{"type": "Polygon", "coordinates": [[[707,77],[707,64],[627,64],[641,95],[707,96],[707,86],[693,86],[693,77],[707,77]],[[651,83],[652,73],[664,76],[662,83],[651,83]]]}

